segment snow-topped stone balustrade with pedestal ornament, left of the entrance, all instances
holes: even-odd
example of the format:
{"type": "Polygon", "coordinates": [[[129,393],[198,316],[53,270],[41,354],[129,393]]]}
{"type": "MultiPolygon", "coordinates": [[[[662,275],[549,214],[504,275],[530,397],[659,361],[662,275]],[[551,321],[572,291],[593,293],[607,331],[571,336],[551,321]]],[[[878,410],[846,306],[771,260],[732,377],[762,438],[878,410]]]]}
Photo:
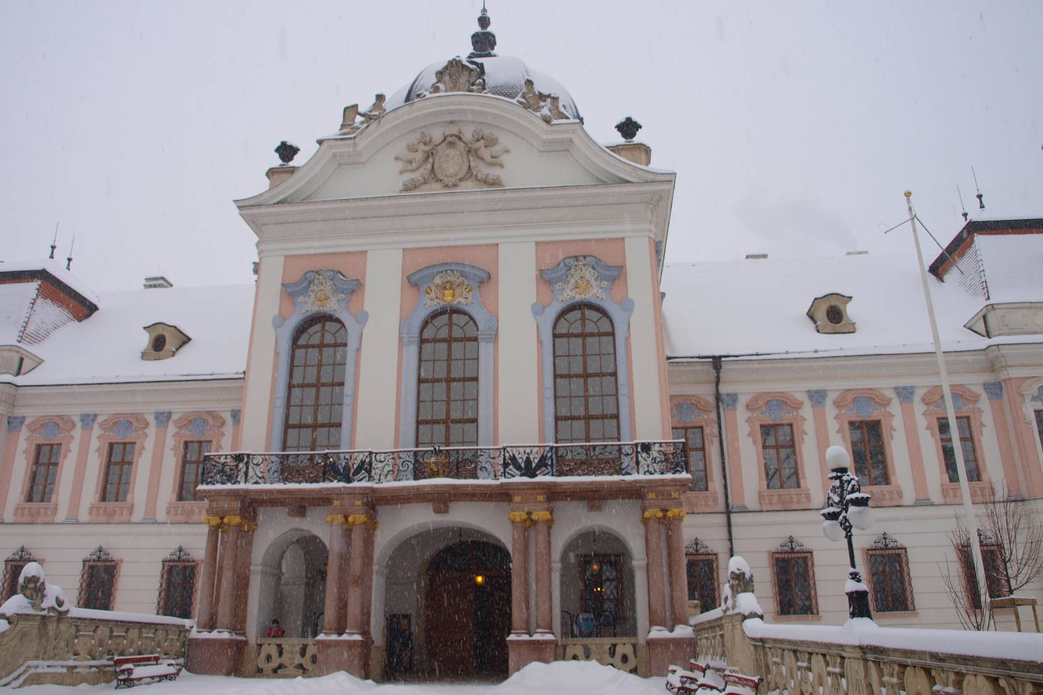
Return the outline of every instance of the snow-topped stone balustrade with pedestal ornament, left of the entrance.
{"type": "Polygon", "coordinates": [[[185,664],[190,621],[70,606],[39,563],[0,605],[0,686],[76,686],[114,680],[113,659],[159,654],[185,664]]]}

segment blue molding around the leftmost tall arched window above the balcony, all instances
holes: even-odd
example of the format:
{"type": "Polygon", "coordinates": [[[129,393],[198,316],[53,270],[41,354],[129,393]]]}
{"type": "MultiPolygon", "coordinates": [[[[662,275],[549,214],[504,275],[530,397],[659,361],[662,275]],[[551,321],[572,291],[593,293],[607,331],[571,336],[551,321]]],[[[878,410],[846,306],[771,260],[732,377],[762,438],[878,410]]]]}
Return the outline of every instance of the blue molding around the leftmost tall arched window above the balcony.
{"type": "Polygon", "coordinates": [[[293,352],[293,337],[300,324],[318,316],[332,316],[344,324],[347,329],[347,365],[344,370],[344,403],[340,428],[340,448],[351,448],[351,426],[355,422],[355,372],[362,343],[362,329],[369,319],[369,314],[359,312],[353,315],[347,311],[351,295],[362,284],[359,280],[348,279],[336,270],[310,270],[295,282],[283,284],[286,294],[293,299],[293,314],[284,319],[276,314],[271,320],[275,329],[275,396],[272,408],[271,439],[268,442],[270,451],[283,449],[283,428],[286,424],[286,392],[290,382],[290,355],[293,352]]]}

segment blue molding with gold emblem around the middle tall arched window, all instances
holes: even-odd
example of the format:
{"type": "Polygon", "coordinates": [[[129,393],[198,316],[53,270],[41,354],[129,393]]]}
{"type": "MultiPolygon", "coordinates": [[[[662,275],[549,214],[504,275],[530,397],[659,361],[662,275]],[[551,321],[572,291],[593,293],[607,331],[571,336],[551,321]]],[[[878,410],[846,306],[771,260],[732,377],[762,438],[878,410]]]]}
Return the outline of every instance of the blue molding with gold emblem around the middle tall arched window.
{"type": "Polygon", "coordinates": [[[432,314],[450,308],[464,312],[478,325],[478,445],[492,446],[493,348],[498,324],[478,291],[480,284],[489,280],[489,272],[465,263],[439,263],[414,271],[406,279],[420,290],[420,296],[398,328],[402,345],[398,447],[416,446],[420,328],[432,314]]]}

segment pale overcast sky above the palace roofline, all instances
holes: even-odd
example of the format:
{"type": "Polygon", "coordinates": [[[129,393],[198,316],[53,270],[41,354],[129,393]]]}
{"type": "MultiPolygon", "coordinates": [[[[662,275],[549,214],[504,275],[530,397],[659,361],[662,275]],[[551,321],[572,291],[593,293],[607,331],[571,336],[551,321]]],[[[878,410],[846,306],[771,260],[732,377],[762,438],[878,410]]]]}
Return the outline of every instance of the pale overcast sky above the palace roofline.
{"type": "MultiPolygon", "coordinates": [[[[478,0],[4,2],[0,259],[99,291],[249,282],[233,199],[430,63],[478,0]]],[[[599,142],[632,115],[677,171],[668,260],[912,253],[902,191],[945,243],[956,187],[1043,215],[1043,2],[488,0],[498,53],[564,84],[599,142]]],[[[927,251],[928,255],[933,253],[927,251]]]]}

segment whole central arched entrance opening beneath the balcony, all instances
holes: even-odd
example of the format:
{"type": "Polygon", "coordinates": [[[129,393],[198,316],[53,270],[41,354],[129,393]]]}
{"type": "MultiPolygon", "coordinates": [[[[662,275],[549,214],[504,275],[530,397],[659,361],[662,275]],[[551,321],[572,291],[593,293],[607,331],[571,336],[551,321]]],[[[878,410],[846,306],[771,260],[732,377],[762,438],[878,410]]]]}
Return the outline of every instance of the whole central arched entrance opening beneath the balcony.
{"type": "Polygon", "coordinates": [[[387,675],[506,676],[510,572],[510,553],[477,529],[429,529],[401,543],[388,563],[387,675]]]}

